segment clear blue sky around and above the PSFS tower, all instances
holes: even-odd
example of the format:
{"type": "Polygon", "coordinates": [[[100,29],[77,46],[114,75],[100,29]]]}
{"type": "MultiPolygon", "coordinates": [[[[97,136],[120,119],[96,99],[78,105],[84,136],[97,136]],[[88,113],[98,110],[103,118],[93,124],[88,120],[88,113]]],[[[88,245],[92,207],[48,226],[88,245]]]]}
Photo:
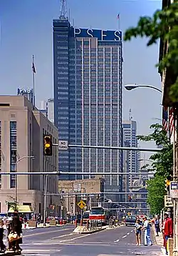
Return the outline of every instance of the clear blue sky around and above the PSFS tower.
{"type": "MultiPolygon", "coordinates": [[[[135,26],[140,16],[161,9],[159,0],[67,0],[75,27],[118,29],[135,26]]],[[[18,87],[32,87],[31,61],[35,56],[36,101],[53,97],[52,21],[60,15],[60,0],[0,0],[0,93],[16,94],[18,87]]],[[[123,42],[123,119],[137,121],[137,134],[149,134],[150,125],[162,119],[162,94],[147,88],[126,91],[125,84],[150,84],[162,89],[157,68],[159,42],[147,39],[123,42]]],[[[140,147],[153,144],[140,143],[140,147]]],[[[149,153],[142,154],[147,158],[149,153]]]]}

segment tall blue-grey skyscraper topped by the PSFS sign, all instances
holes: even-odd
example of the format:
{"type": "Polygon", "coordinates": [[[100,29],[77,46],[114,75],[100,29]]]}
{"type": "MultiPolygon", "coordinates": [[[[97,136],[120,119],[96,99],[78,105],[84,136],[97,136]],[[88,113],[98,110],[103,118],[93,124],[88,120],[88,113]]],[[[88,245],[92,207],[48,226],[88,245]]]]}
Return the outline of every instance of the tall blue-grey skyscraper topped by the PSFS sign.
{"type": "MultiPolygon", "coordinates": [[[[54,123],[69,144],[122,146],[122,32],[76,29],[53,20],[54,123]]],[[[59,169],[121,172],[122,152],[70,148],[59,152],[59,169]]],[[[106,191],[118,191],[119,175],[106,175],[106,191]]]]}

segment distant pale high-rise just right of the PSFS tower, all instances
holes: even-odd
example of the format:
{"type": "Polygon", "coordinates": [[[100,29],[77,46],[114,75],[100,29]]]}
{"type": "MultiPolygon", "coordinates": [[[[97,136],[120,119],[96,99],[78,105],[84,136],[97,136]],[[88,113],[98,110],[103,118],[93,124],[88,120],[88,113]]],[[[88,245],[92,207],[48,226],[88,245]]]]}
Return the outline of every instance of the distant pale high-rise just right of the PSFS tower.
{"type": "MultiPolygon", "coordinates": [[[[123,129],[123,141],[124,144],[127,144],[127,147],[138,147],[137,142],[137,122],[132,121],[131,119],[128,121],[122,122],[123,129]]],[[[138,172],[140,169],[140,152],[130,151],[129,153],[129,165],[128,172],[138,172]]],[[[129,178],[130,186],[132,186],[132,175],[129,178]]]]}

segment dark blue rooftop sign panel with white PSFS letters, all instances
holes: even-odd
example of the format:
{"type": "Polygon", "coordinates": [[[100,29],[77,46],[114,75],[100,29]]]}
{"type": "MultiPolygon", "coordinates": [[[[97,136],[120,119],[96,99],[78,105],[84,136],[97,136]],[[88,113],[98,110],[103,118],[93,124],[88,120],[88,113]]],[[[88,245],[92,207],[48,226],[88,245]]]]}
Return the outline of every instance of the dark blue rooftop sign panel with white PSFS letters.
{"type": "Polygon", "coordinates": [[[121,41],[122,32],[117,30],[100,30],[100,29],[79,29],[73,28],[74,37],[96,37],[100,41],[121,41]]]}

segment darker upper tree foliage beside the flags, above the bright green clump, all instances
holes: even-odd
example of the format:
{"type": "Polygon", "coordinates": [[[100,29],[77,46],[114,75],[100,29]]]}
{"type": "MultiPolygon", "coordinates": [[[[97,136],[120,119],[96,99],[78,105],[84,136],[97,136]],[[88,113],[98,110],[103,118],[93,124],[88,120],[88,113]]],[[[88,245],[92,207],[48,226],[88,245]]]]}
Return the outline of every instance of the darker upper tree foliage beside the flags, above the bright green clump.
{"type": "Polygon", "coordinates": [[[150,129],[154,129],[152,134],[147,136],[139,136],[138,139],[150,142],[154,141],[157,146],[162,146],[162,151],[152,154],[152,169],[156,170],[157,175],[164,177],[164,179],[172,174],[173,167],[173,146],[169,143],[167,132],[162,130],[162,125],[152,124],[150,129]]]}

